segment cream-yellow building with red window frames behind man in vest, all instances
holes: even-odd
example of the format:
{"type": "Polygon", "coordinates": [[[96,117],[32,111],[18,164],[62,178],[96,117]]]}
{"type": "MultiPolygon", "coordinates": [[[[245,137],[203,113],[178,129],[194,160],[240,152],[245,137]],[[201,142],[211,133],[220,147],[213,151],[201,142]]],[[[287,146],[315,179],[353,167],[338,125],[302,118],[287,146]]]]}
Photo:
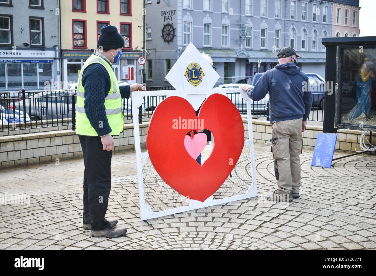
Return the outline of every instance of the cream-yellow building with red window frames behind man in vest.
{"type": "Polygon", "coordinates": [[[141,82],[137,63],[143,47],[143,1],[61,0],[62,78],[76,83],[83,63],[97,48],[100,29],[114,25],[125,40],[112,69],[119,81],[141,82]]]}

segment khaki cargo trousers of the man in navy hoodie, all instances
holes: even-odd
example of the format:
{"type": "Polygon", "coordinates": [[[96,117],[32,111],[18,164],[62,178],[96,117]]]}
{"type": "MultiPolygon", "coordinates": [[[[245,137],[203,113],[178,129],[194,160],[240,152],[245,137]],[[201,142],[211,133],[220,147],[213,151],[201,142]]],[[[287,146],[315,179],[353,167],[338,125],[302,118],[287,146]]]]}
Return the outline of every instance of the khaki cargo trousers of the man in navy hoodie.
{"type": "Polygon", "coordinates": [[[299,193],[300,158],[303,150],[302,119],[273,122],[270,142],[277,179],[277,193],[299,193]]]}

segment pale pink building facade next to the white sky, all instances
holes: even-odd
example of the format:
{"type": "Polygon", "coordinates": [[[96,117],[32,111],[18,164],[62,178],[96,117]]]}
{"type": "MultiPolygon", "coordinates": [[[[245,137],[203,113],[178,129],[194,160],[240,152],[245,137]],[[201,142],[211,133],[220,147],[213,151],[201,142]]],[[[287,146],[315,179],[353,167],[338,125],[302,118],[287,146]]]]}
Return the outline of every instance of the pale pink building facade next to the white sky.
{"type": "Polygon", "coordinates": [[[332,36],[359,36],[359,0],[334,0],[332,36]]]}

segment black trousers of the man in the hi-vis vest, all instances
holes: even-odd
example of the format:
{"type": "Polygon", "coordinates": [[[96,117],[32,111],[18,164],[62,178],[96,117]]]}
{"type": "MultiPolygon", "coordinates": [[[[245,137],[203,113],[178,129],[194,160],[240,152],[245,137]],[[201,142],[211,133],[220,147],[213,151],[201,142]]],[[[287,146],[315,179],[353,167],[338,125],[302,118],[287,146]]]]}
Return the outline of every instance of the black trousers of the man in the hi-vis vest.
{"type": "Polygon", "coordinates": [[[80,136],[85,171],[83,172],[83,223],[91,230],[109,227],[105,219],[111,191],[112,151],[103,150],[100,137],[80,136]]]}

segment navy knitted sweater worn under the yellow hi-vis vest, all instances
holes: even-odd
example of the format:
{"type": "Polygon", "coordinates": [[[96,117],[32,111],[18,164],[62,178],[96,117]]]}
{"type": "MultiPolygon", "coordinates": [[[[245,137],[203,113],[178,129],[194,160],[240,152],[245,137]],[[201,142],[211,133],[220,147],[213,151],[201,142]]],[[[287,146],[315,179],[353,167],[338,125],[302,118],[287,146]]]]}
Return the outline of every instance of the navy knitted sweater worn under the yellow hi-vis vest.
{"type": "MultiPolygon", "coordinates": [[[[85,113],[98,136],[111,133],[105,108],[105,98],[111,89],[111,78],[106,68],[99,63],[86,67],[82,74],[82,86],[85,89],[85,113]]],[[[119,86],[121,98],[129,99],[129,85],[119,86]]]]}

